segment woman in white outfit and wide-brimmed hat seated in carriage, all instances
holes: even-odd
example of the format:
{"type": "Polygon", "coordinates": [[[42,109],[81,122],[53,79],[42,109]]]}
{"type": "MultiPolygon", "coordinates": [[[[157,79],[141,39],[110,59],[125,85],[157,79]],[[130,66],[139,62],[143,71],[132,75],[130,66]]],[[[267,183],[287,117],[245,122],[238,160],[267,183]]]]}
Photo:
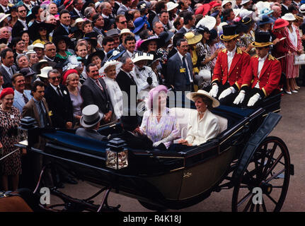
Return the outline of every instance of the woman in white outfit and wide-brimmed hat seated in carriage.
{"type": "Polygon", "coordinates": [[[219,123],[217,117],[210,111],[213,107],[219,106],[219,101],[205,90],[188,93],[186,97],[195,102],[197,112],[190,115],[186,138],[180,139],[178,143],[195,146],[215,138],[219,133],[219,123]]]}

